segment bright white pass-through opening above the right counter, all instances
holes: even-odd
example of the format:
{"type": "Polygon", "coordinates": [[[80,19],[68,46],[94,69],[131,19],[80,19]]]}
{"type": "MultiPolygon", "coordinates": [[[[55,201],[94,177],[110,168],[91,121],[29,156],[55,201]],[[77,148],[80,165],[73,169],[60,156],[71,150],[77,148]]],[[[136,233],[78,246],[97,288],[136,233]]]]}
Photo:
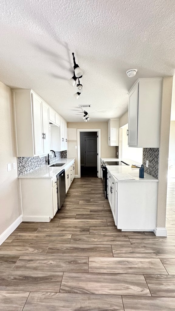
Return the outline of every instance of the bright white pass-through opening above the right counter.
{"type": "Polygon", "coordinates": [[[143,148],[132,148],[128,146],[128,137],[127,137],[127,129],[128,124],[126,124],[124,127],[122,127],[122,159],[130,159],[135,162],[139,162],[142,164],[142,158],[143,158],[143,148]]]}

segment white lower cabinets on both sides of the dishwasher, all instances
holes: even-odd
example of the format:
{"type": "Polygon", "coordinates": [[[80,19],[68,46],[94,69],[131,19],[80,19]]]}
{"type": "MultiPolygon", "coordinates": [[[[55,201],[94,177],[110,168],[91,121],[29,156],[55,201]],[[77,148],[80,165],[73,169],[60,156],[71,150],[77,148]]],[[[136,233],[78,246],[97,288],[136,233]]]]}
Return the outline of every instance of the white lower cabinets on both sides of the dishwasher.
{"type": "MultiPolygon", "coordinates": [[[[74,175],[75,161],[65,167],[65,186],[68,191],[74,175]],[[68,176],[68,178],[67,178],[68,176]]],[[[21,178],[22,220],[49,222],[58,210],[57,178],[21,178]]]]}

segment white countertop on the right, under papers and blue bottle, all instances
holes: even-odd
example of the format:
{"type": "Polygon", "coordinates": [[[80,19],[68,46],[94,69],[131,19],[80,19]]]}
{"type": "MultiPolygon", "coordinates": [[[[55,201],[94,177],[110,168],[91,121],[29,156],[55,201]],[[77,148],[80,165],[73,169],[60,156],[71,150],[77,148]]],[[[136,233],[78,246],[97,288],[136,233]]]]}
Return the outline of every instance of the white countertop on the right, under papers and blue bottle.
{"type": "Polygon", "coordinates": [[[102,161],[123,161],[129,165],[106,165],[106,168],[110,171],[111,174],[130,174],[135,179],[130,180],[117,180],[116,182],[158,182],[158,179],[152,177],[149,174],[144,173],[144,178],[139,178],[139,169],[131,167],[132,164],[140,165],[140,163],[135,162],[130,159],[117,159],[117,158],[101,158],[102,161]]]}

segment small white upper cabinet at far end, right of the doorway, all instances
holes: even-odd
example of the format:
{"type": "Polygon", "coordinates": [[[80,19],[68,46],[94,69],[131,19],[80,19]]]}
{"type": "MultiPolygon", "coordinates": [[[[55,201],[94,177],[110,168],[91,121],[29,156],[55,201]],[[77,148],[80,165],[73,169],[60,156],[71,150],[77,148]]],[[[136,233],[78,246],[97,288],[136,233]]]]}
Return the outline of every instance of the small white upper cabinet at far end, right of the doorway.
{"type": "Polygon", "coordinates": [[[119,119],[108,120],[108,146],[119,145],[119,119]]]}

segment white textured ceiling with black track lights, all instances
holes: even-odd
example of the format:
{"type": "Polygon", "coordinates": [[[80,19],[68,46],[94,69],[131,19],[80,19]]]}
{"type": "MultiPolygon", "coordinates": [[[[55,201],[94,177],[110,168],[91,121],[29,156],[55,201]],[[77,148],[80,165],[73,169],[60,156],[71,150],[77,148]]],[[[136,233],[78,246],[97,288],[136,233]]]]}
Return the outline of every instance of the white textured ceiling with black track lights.
{"type": "Polygon", "coordinates": [[[91,121],[118,118],[136,79],[174,75],[174,12],[174,0],[1,0],[0,81],[32,88],[67,121],[83,121],[79,104],[92,104],[91,121]]]}

